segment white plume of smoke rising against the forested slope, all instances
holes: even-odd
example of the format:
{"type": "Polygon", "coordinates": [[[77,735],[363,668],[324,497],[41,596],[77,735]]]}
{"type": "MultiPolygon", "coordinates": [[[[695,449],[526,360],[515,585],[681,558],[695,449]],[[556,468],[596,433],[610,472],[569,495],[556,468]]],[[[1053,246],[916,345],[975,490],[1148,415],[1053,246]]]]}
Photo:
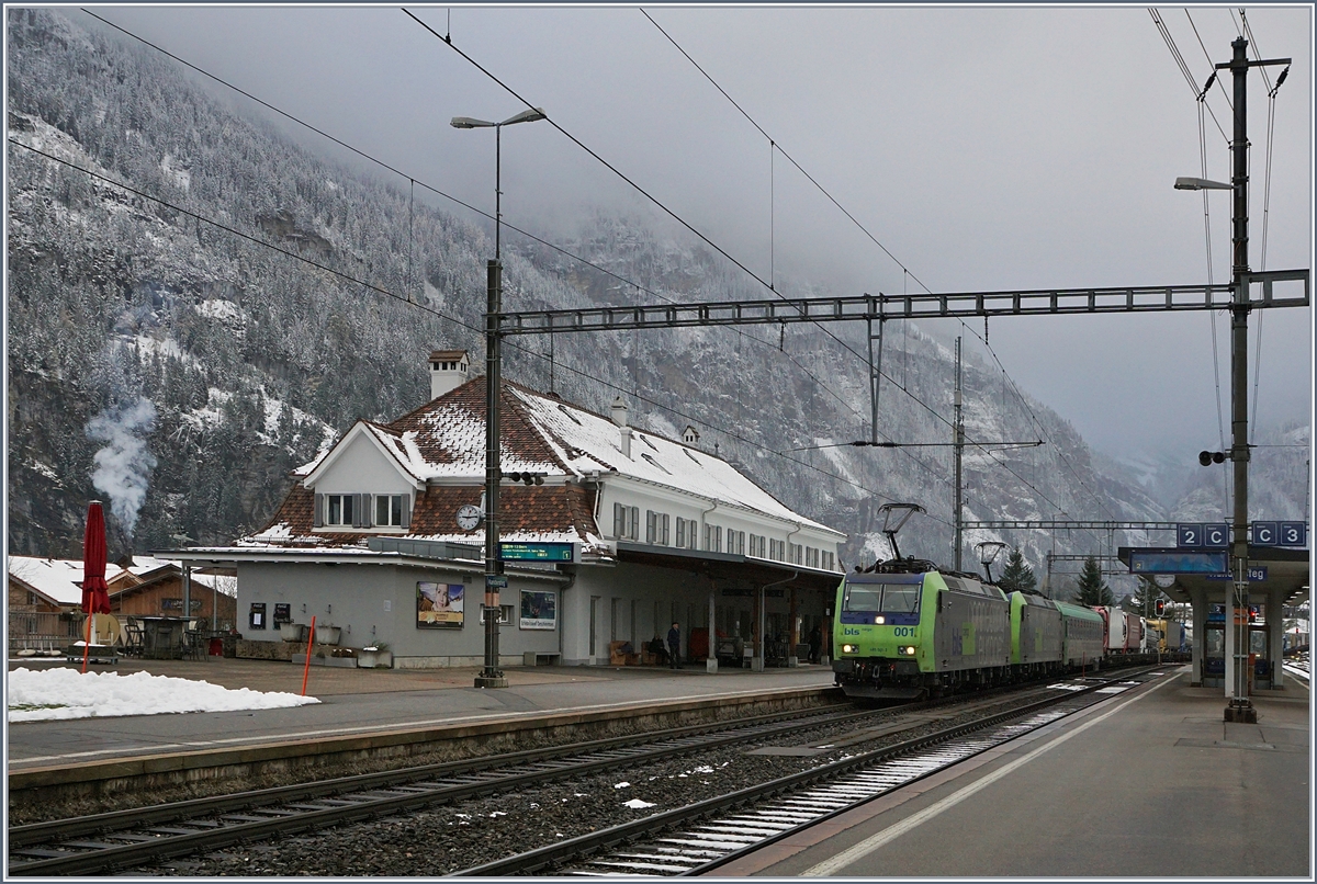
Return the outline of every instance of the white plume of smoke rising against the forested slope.
{"type": "Polygon", "coordinates": [[[155,467],[155,456],[137,433],[150,433],[154,426],[155,406],[141,396],[105,409],[87,424],[88,438],[109,443],[96,453],[91,481],[109,497],[111,512],[129,535],[137,526],[148,476],[155,467]]]}

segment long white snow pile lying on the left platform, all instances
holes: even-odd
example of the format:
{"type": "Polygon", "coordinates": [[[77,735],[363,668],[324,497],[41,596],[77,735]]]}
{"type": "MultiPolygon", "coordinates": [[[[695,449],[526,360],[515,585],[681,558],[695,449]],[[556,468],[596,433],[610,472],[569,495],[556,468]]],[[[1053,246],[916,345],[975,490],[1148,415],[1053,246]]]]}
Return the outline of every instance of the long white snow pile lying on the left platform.
{"type": "Polygon", "coordinates": [[[9,672],[9,721],[158,716],[166,712],[238,712],[286,709],[320,702],[295,693],[230,691],[208,681],[149,672],[79,672],[70,668],[9,672]]]}

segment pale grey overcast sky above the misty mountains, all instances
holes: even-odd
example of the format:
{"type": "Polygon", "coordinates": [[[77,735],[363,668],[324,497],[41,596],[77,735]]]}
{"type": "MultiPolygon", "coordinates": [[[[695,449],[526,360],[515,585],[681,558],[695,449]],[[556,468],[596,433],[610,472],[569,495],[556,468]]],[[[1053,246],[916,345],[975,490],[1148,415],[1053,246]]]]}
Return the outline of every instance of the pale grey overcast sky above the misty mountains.
{"type": "MultiPolygon", "coordinates": [[[[1195,93],[1142,7],[647,7],[900,263],[781,154],[770,160],[765,137],[639,8],[412,9],[765,279],[842,295],[918,291],[902,266],[934,292],[1208,282],[1202,197],[1172,189],[1202,175],[1195,93]]],[[[1160,11],[1200,87],[1202,46],[1210,62],[1230,58],[1234,9],[1160,11]]],[[[399,8],[97,12],[493,210],[493,134],[448,121],[524,105],[399,8]]],[[[1275,101],[1266,268],[1310,267],[1312,11],[1250,9],[1249,24],[1264,58],[1293,58],[1275,101]]],[[[1279,72],[1268,68],[1272,83],[1279,72]]],[[[1208,105],[1229,134],[1221,89],[1208,105]]],[[[1256,71],[1249,108],[1259,268],[1268,103],[1256,71]]],[[[1205,125],[1206,178],[1229,180],[1227,141],[1205,125]]],[[[549,238],[643,203],[547,124],[503,133],[503,192],[504,217],[549,238]]],[[[1210,197],[1210,233],[1213,280],[1229,282],[1226,192],[1210,197]]],[[[1254,313],[1250,399],[1259,325],[1259,424],[1306,421],[1312,312],[1254,313]]],[[[923,328],[954,337],[957,324],[923,328]]],[[[1021,317],[994,320],[989,339],[1094,447],[1192,462],[1218,446],[1212,328],[1208,313],[1021,317]]],[[[1216,328],[1229,435],[1227,317],[1216,328]]]]}

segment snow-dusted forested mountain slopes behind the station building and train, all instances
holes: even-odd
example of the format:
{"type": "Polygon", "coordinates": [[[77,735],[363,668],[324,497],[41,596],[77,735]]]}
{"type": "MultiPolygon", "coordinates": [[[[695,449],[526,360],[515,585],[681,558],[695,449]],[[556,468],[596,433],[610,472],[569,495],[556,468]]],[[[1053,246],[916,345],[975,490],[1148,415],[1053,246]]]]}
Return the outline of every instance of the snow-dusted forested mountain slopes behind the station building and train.
{"type": "MultiPolygon", "coordinates": [[[[13,551],[78,554],[91,497],[117,501],[112,550],[228,542],[263,524],[290,468],[353,420],[424,401],[432,349],[464,347],[481,364],[485,232],[290,143],[146,50],[51,11],[12,11],[9,25],[8,125],[21,145],[9,146],[8,207],[13,551]]],[[[615,276],[506,238],[508,309],[763,296],[710,253],[635,220],[593,218],[561,245],[615,276]]],[[[881,438],[950,442],[951,349],[914,325],[889,322],[886,335],[881,438]]],[[[847,563],[886,555],[876,513],[889,500],[928,510],[902,533],[902,551],[950,560],[950,449],[806,450],[868,438],[863,329],[511,345],[510,379],[601,412],[620,391],[633,424],[672,438],[693,424],[707,450],[851,533],[847,563]]],[[[971,439],[1047,442],[967,450],[967,520],[1144,520],[1172,508],[1127,467],[1097,464],[1069,424],[1000,371],[968,359],[964,387],[971,439]]],[[[1258,480],[1260,505],[1293,509],[1285,470],[1274,489],[1258,480]]],[[[1200,512],[1195,500],[1176,512],[1200,512]]],[[[1108,541],[1004,539],[1035,567],[1046,550],[1108,541]]]]}

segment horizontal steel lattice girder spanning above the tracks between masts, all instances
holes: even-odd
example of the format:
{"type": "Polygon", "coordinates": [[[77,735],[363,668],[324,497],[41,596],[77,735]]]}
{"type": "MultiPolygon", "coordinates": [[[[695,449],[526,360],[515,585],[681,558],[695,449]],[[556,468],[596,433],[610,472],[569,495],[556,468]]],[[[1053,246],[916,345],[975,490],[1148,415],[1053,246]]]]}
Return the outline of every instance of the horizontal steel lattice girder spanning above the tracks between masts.
{"type": "MultiPolygon", "coordinates": [[[[1260,284],[1250,309],[1309,307],[1308,270],[1250,274],[1260,284]],[[1301,282],[1301,293],[1276,293],[1277,282],[1301,282]]],[[[1118,288],[1043,288],[946,295],[848,295],[782,297],[694,304],[585,307],[557,310],[495,313],[499,334],[673,329],[709,325],[777,325],[856,320],[919,320],[939,317],[1065,316],[1079,313],[1154,313],[1223,310],[1233,304],[1233,284],[1126,285],[1118,288]]]]}

